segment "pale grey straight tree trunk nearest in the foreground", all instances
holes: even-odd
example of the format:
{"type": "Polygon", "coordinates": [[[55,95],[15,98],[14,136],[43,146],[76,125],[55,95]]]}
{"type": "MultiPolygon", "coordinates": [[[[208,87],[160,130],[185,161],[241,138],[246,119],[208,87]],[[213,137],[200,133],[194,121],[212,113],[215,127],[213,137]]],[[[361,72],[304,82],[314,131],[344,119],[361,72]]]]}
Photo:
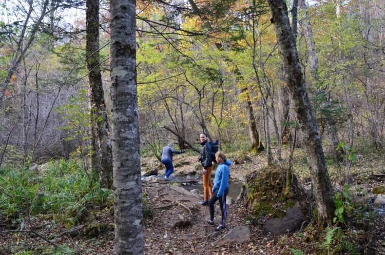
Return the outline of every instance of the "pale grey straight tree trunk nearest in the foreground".
{"type": "Polygon", "coordinates": [[[116,255],[144,252],[135,0],[111,0],[112,154],[116,255]]]}

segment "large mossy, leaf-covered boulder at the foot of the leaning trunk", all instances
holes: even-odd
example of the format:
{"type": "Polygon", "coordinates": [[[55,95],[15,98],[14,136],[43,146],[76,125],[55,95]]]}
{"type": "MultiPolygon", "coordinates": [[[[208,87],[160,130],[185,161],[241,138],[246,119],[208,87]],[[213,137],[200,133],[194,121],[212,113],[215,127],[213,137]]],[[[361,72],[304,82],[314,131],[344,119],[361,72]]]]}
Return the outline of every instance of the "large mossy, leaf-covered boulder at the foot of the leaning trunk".
{"type": "Polygon", "coordinates": [[[283,234],[300,229],[306,221],[310,201],[298,185],[295,175],[290,177],[287,191],[286,170],[280,166],[267,166],[246,176],[240,198],[256,218],[265,222],[263,228],[272,234],[283,234]]]}

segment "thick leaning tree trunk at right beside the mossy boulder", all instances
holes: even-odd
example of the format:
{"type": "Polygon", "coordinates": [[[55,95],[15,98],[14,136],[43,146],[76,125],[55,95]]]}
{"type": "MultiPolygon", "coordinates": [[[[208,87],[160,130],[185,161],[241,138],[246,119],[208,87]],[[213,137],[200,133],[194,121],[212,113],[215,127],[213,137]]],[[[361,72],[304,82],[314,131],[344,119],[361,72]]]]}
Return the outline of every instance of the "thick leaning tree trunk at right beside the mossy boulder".
{"type": "Polygon", "coordinates": [[[334,217],[333,188],[330,182],[325,156],[322,150],[321,135],[313,115],[306,84],[299,63],[284,0],[268,0],[277,35],[279,53],[282,58],[287,84],[293,96],[294,109],[304,135],[307,164],[312,176],[316,206],[320,219],[332,223],[334,217]]]}

